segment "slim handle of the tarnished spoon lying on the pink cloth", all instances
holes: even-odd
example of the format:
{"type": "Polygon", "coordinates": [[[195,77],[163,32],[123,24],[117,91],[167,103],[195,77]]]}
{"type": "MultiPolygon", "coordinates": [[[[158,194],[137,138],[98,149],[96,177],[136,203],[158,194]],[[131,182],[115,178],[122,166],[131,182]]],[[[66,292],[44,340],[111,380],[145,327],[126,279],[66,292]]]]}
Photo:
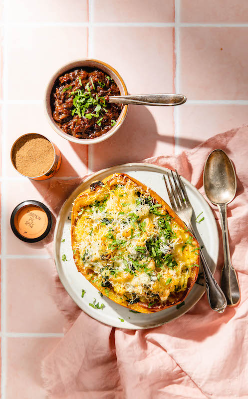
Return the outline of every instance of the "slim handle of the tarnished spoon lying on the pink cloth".
{"type": "Polygon", "coordinates": [[[218,205],[218,208],[221,215],[221,228],[224,249],[224,266],[222,269],[221,287],[224,294],[226,295],[228,306],[236,306],[240,302],[240,286],[230,256],[227,204],[218,205]]]}

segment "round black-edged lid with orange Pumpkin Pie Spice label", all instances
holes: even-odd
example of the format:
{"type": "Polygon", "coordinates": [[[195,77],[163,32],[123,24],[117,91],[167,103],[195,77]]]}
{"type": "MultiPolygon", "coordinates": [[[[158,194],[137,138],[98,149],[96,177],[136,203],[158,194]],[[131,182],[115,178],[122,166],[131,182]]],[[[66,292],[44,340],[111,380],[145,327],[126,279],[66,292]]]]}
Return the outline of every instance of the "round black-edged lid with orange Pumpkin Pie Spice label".
{"type": "Polygon", "coordinates": [[[14,208],[10,226],[15,236],[22,241],[41,241],[51,230],[51,212],[42,202],[23,201],[14,208]]]}

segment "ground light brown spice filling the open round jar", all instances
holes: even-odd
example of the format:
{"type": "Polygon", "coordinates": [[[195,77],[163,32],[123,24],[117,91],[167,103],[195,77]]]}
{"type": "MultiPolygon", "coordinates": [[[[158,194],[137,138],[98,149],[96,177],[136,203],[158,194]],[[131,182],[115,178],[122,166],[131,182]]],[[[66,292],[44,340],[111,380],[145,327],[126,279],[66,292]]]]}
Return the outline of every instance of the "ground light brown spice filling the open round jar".
{"type": "Polygon", "coordinates": [[[51,143],[42,136],[27,134],[14,145],[12,161],[22,175],[36,177],[48,172],[54,160],[51,143]]]}

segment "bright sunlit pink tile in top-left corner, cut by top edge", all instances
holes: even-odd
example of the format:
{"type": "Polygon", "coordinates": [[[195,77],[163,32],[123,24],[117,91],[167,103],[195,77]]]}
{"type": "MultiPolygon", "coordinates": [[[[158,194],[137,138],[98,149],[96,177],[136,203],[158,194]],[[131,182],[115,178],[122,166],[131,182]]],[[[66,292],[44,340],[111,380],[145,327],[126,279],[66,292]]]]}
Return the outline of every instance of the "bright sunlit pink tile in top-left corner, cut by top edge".
{"type": "Polygon", "coordinates": [[[6,14],[9,22],[87,22],[88,1],[73,0],[8,0],[6,2],[6,14]],[[75,12],[76,10],[76,12],[75,12]]]}

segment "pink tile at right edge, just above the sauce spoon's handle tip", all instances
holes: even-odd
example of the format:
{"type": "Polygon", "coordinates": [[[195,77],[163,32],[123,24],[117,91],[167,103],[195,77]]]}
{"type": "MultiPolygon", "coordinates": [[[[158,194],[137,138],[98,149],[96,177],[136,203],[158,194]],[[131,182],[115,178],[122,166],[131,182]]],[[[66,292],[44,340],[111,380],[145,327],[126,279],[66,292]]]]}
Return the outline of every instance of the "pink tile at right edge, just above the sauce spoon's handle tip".
{"type": "Polygon", "coordinates": [[[181,28],[180,90],[189,100],[243,100],[248,28],[181,28]]]}

